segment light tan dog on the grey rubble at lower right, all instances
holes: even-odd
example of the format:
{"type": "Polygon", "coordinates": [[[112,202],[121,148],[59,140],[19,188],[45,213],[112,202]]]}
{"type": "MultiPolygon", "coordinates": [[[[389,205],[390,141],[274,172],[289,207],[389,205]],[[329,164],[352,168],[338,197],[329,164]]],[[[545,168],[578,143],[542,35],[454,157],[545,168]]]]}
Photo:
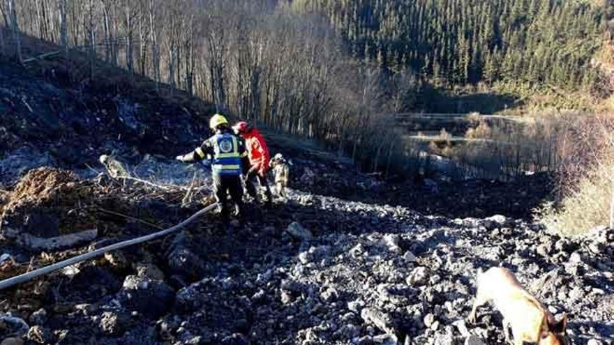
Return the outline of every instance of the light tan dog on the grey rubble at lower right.
{"type": "Polygon", "coordinates": [[[555,321],[548,309],[535,299],[518,282],[507,268],[493,267],[477,274],[477,295],[475,297],[469,321],[475,322],[477,307],[493,302],[503,315],[503,332],[505,340],[514,345],[530,342],[538,345],[566,344],[565,328],[567,315],[561,321],[555,321]],[[509,328],[514,335],[514,342],[509,339],[509,328]]]}

